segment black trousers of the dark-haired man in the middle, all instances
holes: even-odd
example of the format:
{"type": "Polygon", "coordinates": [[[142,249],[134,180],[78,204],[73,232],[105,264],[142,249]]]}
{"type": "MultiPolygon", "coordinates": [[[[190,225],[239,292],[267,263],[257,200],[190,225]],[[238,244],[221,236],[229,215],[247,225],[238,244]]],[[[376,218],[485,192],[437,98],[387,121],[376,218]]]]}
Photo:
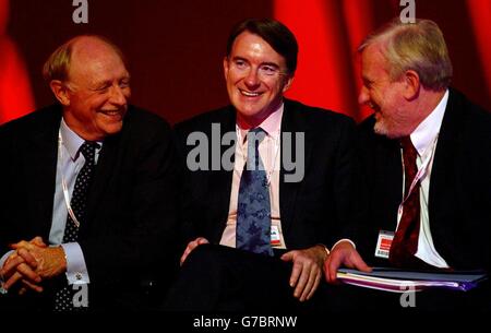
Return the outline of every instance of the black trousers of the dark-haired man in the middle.
{"type": "Polygon", "coordinates": [[[267,257],[224,246],[199,246],[182,265],[164,310],[312,311],[320,302],[318,296],[306,302],[294,297],[295,289],[289,286],[292,264],[282,261],[280,254],[276,251],[275,257],[267,257]]]}

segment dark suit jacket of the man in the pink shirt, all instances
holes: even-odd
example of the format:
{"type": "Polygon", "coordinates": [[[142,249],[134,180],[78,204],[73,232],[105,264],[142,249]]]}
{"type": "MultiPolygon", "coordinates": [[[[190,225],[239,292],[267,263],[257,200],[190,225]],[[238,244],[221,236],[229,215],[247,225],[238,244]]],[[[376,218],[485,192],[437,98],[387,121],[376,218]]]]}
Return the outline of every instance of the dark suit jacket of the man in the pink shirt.
{"type": "MultiPolygon", "coordinates": [[[[215,148],[223,154],[230,148],[231,144],[213,146],[212,123],[220,126],[221,135],[236,133],[236,110],[228,106],[176,126],[177,143],[184,164],[188,153],[194,148],[194,145],[187,145],[187,138],[192,132],[206,134],[209,153],[215,148]]],[[[332,246],[342,234],[349,233],[343,229],[344,226],[358,218],[356,207],[359,201],[354,200],[358,167],[354,155],[354,129],[352,120],[346,116],[285,100],[282,143],[286,132],[294,133],[292,138],[296,132],[306,133],[303,179],[285,182],[287,171],[283,162],[279,176],[280,219],[288,249],[308,248],[315,243],[332,246]]],[[[283,150],[282,146],[282,156],[283,150]]],[[[232,171],[223,168],[191,171],[185,165],[182,167],[187,180],[183,212],[189,227],[188,240],[203,236],[212,243],[218,243],[229,211],[232,171]]]]}

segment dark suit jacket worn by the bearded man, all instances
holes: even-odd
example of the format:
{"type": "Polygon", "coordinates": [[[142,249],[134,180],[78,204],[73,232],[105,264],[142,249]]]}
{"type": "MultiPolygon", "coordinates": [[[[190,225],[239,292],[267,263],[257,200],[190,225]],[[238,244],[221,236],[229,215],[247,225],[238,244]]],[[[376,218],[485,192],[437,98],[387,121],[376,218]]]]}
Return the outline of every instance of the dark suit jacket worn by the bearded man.
{"type": "MultiPolygon", "coordinates": [[[[373,132],[370,117],[360,126],[370,218],[357,239],[369,262],[375,260],[379,230],[395,230],[402,200],[403,167],[397,140],[373,132]]],[[[430,228],[436,251],[454,269],[490,267],[491,114],[450,91],[430,180],[430,228]]]]}

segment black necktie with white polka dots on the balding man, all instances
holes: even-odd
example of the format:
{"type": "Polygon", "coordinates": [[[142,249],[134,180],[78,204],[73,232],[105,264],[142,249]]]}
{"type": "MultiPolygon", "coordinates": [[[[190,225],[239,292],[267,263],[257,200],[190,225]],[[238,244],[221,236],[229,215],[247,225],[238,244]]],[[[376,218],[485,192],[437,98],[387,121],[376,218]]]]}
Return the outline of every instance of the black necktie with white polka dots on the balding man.
{"type": "MultiPolygon", "coordinates": [[[[91,186],[91,181],[95,169],[95,150],[97,143],[84,142],[80,148],[80,152],[85,157],[85,164],[76,176],[75,187],[73,189],[72,199],[70,205],[76,219],[83,224],[85,222],[87,192],[91,186]]],[[[70,214],[67,217],[67,225],[64,227],[63,243],[76,241],[79,238],[79,228],[73,222],[70,214]]],[[[63,286],[55,295],[55,311],[71,311],[74,310],[73,306],[73,287],[71,285],[63,286]]]]}

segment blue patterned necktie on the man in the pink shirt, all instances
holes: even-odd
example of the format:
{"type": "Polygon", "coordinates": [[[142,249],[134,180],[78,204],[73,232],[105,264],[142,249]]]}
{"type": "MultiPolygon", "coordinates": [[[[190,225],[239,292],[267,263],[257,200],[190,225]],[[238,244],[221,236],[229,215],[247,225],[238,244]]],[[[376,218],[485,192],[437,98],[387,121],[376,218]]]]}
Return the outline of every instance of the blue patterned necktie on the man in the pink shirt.
{"type": "Polygon", "coordinates": [[[259,144],[265,135],[261,128],[248,133],[248,159],[239,186],[236,247],[273,255],[270,190],[266,171],[259,155],[259,144]]]}

